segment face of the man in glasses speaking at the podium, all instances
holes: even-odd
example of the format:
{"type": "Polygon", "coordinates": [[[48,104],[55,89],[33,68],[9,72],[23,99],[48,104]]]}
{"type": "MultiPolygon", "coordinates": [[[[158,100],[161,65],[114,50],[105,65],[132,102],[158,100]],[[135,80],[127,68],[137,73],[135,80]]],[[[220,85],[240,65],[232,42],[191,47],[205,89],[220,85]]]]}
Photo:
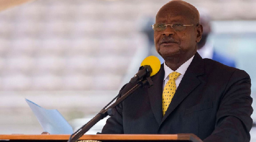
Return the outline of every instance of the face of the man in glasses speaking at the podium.
{"type": "MultiPolygon", "coordinates": [[[[180,13],[182,11],[162,11],[158,13],[156,23],[198,24],[193,23],[189,16],[180,13]]],[[[167,26],[164,31],[154,31],[154,42],[157,52],[165,60],[173,57],[188,58],[196,52],[197,36],[197,26],[186,26],[183,31],[175,31],[171,26],[167,26]]]]}

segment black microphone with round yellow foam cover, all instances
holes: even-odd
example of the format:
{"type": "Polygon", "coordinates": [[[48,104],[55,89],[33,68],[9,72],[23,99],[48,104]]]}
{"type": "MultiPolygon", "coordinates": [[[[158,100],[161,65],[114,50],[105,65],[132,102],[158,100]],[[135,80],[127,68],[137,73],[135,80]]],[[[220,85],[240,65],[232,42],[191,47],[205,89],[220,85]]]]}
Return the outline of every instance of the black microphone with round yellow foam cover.
{"type": "Polygon", "coordinates": [[[146,57],[140,64],[139,71],[131,78],[130,82],[134,83],[143,77],[152,77],[160,70],[160,60],[155,56],[146,57]]]}

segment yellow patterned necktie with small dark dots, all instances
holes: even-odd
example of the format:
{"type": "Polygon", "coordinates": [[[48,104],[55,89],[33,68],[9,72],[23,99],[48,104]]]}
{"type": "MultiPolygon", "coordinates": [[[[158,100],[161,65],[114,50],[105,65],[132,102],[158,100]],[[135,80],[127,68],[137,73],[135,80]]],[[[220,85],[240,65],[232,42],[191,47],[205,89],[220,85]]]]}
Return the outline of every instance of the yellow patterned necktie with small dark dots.
{"type": "Polygon", "coordinates": [[[167,111],[167,108],[170,105],[170,102],[172,101],[172,97],[175,94],[176,91],[176,83],[175,80],[180,76],[180,73],[178,72],[172,72],[169,74],[169,80],[166,83],[166,85],[163,88],[163,99],[162,99],[162,106],[163,106],[163,116],[167,111]]]}

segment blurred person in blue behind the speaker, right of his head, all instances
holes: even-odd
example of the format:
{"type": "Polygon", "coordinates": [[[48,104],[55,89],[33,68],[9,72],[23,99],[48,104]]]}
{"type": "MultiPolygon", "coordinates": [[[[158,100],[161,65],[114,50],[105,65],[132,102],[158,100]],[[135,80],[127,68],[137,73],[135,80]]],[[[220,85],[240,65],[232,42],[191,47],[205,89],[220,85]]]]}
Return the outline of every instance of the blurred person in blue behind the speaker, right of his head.
{"type": "Polygon", "coordinates": [[[202,34],[202,39],[198,43],[198,53],[202,58],[209,58],[215,61],[218,61],[220,63],[223,63],[224,65],[228,65],[230,67],[236,68],[236,62],[229,58],[225,57],[224,55],[218,53],[212,43],[210,43],[207,40],[208,35],[211,33],[212,28],[210,24],[210,16],[208,12],[205,9],[200,10],[200,23],[204,27],[204,31],[202,34]]]}

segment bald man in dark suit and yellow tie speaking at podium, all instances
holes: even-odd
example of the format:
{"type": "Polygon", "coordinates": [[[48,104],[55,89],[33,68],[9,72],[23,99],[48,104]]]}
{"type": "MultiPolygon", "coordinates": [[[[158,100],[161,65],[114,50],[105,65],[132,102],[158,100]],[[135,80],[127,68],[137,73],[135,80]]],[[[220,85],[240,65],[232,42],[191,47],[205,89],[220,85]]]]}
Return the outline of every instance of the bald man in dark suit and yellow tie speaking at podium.
{"type": "MultiPolygon", "coordinates": [[[[202,32],[198,10],[189,3],[172,0],[158,11],[154,42],[165,62],[151,77],[154,86],[139,88],[118,105],[102,133],[194,133],[204,142],[250,141],[250,77],[202,59],[197,53],[202,32]]],[[[126,84],[120,96],[133,86],[126,84]]]]}

